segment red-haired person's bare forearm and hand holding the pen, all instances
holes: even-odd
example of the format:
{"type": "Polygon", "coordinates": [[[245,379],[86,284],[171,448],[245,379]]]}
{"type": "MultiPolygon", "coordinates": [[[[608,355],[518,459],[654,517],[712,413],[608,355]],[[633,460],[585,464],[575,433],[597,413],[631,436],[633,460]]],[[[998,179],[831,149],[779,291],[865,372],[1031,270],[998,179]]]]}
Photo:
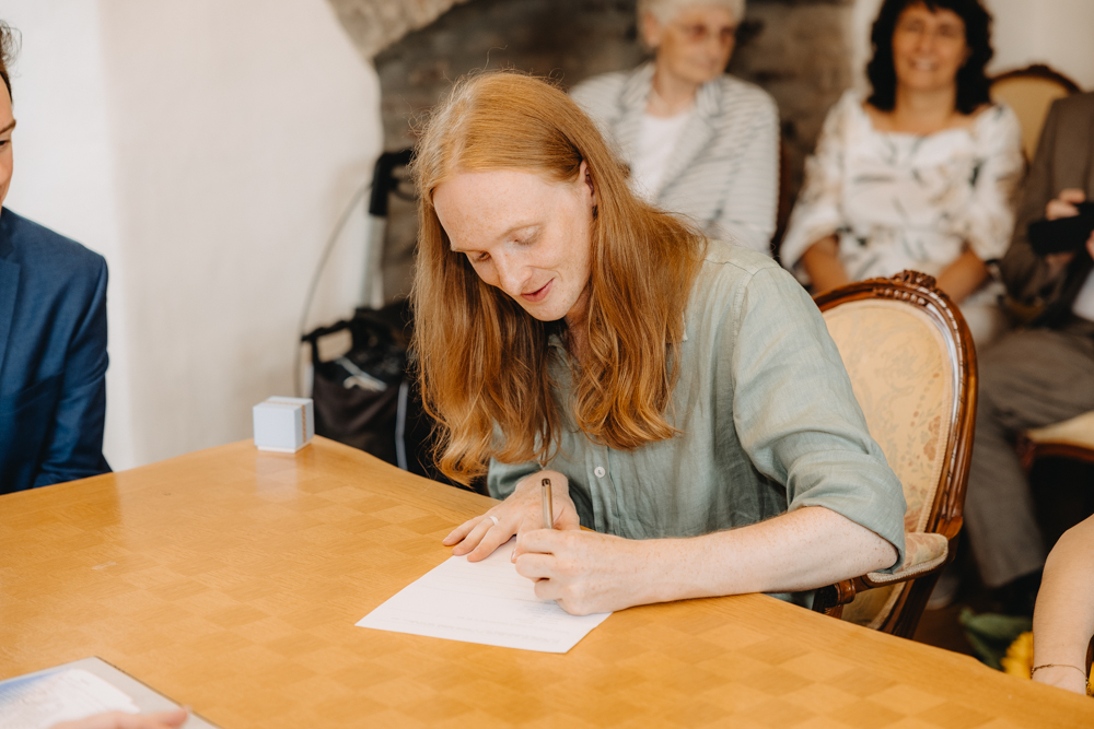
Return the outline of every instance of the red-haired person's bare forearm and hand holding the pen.
{"type": "MultiPolygon", "coordinates": [[[[488,514],[503,513],[508,503],[488,514]]],[[[688,539],[629,540],[537,529],[523,533],[517,546],[522,553],[516,571],[536,581],[536,596],[557,600],[575,615],[690,598],[812,589],[888,567],[897,556],[874,532],[819,506],[688,539]]]]}

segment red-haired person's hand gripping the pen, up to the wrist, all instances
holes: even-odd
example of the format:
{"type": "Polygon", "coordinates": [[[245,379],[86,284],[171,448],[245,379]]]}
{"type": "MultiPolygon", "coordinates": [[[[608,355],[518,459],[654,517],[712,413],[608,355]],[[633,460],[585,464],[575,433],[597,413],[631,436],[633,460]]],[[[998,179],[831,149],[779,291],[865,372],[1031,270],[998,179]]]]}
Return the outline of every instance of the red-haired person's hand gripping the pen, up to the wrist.
{"type": "Polygon", "coordinates": [[[572,615],[657,602],[656,560],[649,541],[594,531],[537,529],[521,536],[516,572],[536,583],[536,597],[572,615]]]}

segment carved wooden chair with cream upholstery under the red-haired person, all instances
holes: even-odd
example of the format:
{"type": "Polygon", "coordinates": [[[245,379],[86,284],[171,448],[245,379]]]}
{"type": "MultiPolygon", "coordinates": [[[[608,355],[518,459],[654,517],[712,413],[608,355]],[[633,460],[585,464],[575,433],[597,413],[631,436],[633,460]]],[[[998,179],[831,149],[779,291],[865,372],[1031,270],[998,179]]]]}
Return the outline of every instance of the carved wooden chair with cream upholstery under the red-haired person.
{"type": "Polygon", "coordinates": [[[824,587],[813,609],[911,637],[962,526],[976,420],[973,338],[934,279],[916,271],[840,286],[816,303],[908,512],[904,566],[824,587]]]}

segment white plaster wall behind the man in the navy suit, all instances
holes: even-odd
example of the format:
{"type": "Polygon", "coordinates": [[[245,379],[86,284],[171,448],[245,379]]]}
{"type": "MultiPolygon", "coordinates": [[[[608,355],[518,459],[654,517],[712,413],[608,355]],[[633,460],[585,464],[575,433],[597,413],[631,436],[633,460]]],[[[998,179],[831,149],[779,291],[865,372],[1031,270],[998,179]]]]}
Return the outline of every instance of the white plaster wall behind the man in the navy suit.
{"type": "MultiPolygon", "coordinates": [[[[324,0],[8,0],[0,16],[25,48],[11,207],[112,269],[107,457],[248,437],[251,407],[291,392],[309,277],[380,151],[374,71],[324,0]]],[[[357,303],[362,235],[363,209],[313,322],[357,303]]]]}

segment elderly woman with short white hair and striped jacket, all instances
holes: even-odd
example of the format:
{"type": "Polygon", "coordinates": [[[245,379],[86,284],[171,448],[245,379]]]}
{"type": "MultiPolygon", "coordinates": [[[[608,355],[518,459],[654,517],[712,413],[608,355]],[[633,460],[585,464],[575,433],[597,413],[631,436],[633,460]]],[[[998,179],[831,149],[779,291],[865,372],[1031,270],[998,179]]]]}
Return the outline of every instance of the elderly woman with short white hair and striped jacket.
{"type": "Polygon", "coordinates": [[[712,238],[770,254],[779,114],[724,73],[745,0],[639,0],[651,62],[571,92],[630,167],[635,192],[712,238]]]}

